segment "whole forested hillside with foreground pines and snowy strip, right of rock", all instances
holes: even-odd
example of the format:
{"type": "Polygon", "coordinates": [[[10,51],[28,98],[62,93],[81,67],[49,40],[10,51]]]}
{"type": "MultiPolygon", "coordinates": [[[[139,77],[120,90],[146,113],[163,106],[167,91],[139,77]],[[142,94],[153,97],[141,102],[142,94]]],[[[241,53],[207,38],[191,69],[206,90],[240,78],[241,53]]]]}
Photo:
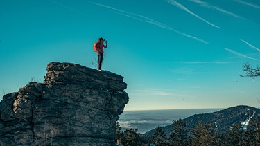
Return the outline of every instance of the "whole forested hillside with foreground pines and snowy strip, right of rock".
{"type": "Polygon", "coordinates": [[[121,145],[260,145],[260,109],[248,106],[230,107],[173,120],[141,135],[138,129],[120,132],[115,140],[121,145]]]}

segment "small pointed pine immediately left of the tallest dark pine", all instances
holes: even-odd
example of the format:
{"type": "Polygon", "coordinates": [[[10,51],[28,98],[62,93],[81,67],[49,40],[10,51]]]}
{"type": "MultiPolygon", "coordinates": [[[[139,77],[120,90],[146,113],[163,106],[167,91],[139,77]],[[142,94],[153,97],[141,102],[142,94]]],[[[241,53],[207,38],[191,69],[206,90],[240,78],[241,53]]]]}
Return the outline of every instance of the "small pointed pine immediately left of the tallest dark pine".
{"type": "Polygon", "coordinates": [[[166,145],[165,131],[159,125],[154,129],[150,143],[154,143],[156,146],[166,145]]]}

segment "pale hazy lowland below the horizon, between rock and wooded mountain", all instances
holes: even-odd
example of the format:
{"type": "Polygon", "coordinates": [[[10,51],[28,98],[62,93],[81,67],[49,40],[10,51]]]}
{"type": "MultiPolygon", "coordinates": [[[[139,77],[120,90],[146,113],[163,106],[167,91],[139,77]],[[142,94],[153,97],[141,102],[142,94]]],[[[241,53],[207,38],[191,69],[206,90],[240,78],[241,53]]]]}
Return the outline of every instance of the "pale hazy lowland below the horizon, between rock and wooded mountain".
{"type": "MultiPolygon", "coordinates": [[[[166,110],[143,110],[143,111],[123,111],[119,115],[119,124],[125,129],[138,128],[138,132],[144,134],[158,125],[167,126],[173,120],[184,119],[194,114],[212,113],[222,109],[166,109],[166,110]]],[[[123,131],[122,130],[122,131],[123,131]]]]}

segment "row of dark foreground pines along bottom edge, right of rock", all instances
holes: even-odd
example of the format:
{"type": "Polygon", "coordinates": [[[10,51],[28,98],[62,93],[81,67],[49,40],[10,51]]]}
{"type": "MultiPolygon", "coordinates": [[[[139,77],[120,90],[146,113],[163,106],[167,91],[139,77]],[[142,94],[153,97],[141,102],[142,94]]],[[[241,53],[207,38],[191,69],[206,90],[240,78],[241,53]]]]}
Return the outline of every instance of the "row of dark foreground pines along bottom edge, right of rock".
{"type": "Polygon", "coordinates": [[[219,133],[214,122],[198,122],[189,130],[184,120],[173,120],[171,133],[166,134],[159,125],[153,130],[151,136],[138,133],[138,129],[121,131],[119,122],[116,123],[115,141],[119,145],[137,146],[204,146],[204,145],[260,145],[260,120],[252,118],[247,129],[243,129],[240,122],[230,125],[223,133],[219,133]]]}

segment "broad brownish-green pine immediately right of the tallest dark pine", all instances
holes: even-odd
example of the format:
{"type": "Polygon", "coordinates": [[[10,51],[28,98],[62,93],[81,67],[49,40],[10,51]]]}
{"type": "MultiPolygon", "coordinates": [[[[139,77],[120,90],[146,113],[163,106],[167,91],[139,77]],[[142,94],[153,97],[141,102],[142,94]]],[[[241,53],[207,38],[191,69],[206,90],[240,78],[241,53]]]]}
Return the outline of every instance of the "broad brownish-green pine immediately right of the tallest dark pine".
{"type": "Polygon", "coordinates": [[[214,130],[214,123],[198,122],[193,129],[193,136],[191,137],[191,145],[206,146],[217,145],[216,131],[214,130]]]}

